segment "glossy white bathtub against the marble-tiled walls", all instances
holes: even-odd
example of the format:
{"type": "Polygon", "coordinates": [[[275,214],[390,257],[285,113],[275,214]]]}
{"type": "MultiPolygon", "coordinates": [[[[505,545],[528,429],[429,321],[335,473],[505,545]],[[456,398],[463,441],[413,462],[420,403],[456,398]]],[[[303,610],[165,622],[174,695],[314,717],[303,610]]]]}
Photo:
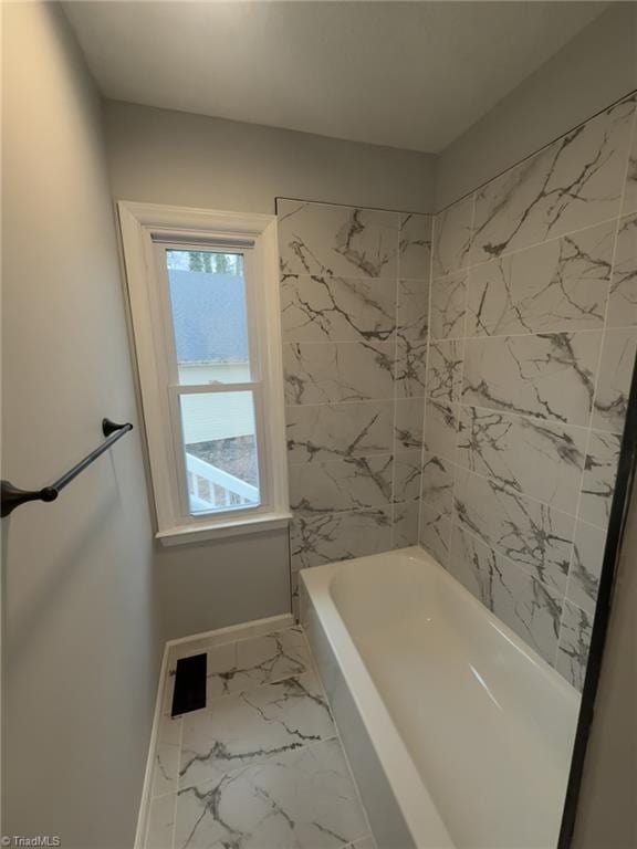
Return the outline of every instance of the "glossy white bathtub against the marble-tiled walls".
{"type": "Polygon", "coordinates": [[[576,691],[421,548],[301,578],[380,849],[554,849],[576,691]]]}

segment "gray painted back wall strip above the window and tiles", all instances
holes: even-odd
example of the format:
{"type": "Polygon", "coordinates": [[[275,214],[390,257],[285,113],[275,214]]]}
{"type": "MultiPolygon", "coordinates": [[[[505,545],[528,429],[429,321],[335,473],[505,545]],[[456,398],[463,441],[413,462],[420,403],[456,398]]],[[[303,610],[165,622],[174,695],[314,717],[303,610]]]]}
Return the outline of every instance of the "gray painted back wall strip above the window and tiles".
{"type": "Polygon", "coordinates": [[[104,116],[118,200],[272,213],[282,196],[431,211],[428,154],[114,101],[104,116]]]}

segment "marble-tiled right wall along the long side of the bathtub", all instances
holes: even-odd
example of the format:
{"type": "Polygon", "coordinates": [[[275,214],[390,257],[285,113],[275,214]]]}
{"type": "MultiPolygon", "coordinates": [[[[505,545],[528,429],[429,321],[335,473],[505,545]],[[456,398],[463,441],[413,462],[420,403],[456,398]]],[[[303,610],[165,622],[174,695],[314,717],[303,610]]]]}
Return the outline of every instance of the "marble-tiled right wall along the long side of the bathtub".
{"type": "Polygon", "coordinates": [[[420,542],[579,689],[637,348],[635,123],[628,98],[434,222],[420,542]]]}

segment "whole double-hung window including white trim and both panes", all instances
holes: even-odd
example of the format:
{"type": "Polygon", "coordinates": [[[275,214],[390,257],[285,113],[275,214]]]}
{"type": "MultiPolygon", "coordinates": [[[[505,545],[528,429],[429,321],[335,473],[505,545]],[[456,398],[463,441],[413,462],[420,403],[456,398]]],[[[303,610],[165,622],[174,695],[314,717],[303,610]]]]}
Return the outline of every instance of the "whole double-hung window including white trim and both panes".
{"type": "Polygon", "coordinates": [[[275,220],[121,203],[158,536],[284,524],[275,220]]]}

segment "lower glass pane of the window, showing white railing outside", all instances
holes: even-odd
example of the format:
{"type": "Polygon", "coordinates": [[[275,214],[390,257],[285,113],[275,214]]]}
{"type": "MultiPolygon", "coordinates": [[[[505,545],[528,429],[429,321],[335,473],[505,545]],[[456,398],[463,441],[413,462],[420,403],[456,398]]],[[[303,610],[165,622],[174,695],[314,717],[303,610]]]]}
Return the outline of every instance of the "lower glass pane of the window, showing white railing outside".
{"type": "Polygon", "coordinates": [[[190,513],[260,503],[252,392],[181,395],[190,513]]]}

